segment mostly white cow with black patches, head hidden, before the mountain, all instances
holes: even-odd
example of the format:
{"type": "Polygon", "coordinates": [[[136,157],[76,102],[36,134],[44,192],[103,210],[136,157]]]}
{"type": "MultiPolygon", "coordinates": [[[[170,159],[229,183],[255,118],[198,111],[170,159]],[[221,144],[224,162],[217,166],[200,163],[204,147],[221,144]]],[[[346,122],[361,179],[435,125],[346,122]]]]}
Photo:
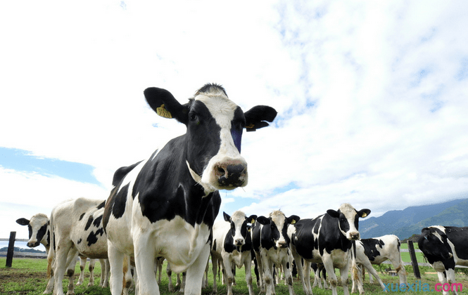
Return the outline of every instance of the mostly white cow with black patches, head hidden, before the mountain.
{"type": "MultiPolygon", "coordinates": [[[[396,235],[384,235],[382,237],[374,237],[372,239],[361,239],[355,241],[356,263],[361,267],[364,266],[369,271],[369,277],[372,276],[377,279],[383,290],[386,290],[384,282],[377,271],[372,267],[372,264],[381,264],[386,260],[391,261],[393,268],[395,268],[398,276],[400,277],[400,285],[407,285],[407,277],[403,260],[400,253],[400,239],[396,235]]],[[[358,272],[359,277],[351,277],[353,280],[353,287],[351,293],[355,292],[356,284],[362,283],[361,272],[358,272]]]]}

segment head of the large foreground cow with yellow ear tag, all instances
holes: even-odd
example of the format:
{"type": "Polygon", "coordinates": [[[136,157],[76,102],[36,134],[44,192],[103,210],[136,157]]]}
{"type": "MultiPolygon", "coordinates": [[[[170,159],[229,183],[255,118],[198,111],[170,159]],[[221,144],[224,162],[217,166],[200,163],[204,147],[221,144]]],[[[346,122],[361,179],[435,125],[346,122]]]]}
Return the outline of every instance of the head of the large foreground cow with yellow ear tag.
{"type": "Polygon", "coordinates": [[[157,114],[186,125],[186,165],[205,191],[247,185],[247,163],[240,155],[242,131],[268,126],[277,114],[272,107],[258,105],[243,112],[216,84],[198,89],[184,105],[165,89],[148,88],[144,95],[157,114]]]}

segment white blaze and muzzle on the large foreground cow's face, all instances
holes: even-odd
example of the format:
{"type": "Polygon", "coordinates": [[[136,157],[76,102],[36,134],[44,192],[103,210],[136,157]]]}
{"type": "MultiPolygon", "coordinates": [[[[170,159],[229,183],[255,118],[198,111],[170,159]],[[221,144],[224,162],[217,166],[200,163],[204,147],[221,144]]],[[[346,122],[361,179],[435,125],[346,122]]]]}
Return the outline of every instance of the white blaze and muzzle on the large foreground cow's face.
{"type": "MultiPolygon", "coordinates": [[[[231,134],[231,122],[234,119],[234,111],[237,105],[233,103],[222,91],[215,91],[210,93],[201,93],[195,97],[195,100],[199,100],[205,104],[210,111],[210,114],[215,118],[216,124],[221,127],[220,131],[220,150],[213,158],[210,159],[208,164],[205,166],[205,170],[201,176],[201,184],[203,188],[215,188],[215,190],[233,190],[236,187],[222,187],[218,184],[218,177],[216,175],[217,165],[238,165],[242,164],[246,167],[246,173],[244,176],[244,183],[242,187],[247,185],[248,174],[247,174],[247,162],[244,157],[241,156],[231,134]]],[[[212,190],[213,191],[213,190],[212,190]]]]}

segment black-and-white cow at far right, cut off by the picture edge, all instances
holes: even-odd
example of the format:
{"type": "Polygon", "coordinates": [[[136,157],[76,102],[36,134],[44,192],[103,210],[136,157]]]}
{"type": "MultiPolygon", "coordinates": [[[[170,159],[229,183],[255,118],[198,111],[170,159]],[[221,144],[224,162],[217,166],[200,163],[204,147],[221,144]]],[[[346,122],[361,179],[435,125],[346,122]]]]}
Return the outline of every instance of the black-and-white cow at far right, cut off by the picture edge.
{"type": "Polygon", "coordinates": [[[455,265],[468,266],[468,227],[429,226],[421,230],[417,244],[437,271],[443,294],[448,294],[445,284],[450,284],[453,294],[458,294],[457,289],[461,291],[462,285],[455,282],[455,265]]]}

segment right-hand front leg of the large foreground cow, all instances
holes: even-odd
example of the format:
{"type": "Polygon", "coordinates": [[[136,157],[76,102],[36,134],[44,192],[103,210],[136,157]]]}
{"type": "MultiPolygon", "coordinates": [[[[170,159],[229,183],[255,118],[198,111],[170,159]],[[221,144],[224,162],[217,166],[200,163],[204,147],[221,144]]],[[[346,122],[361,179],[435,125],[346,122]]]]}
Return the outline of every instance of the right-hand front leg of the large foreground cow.
{"type": "Polygon", "coordinates": [[[200,251],[198,258],[186,271],[184,294],[200,295],[201,280],[203,280],[203,270],[206,268],[206,262],[210,256],[210,245],[206,244],[200,251]]]}

